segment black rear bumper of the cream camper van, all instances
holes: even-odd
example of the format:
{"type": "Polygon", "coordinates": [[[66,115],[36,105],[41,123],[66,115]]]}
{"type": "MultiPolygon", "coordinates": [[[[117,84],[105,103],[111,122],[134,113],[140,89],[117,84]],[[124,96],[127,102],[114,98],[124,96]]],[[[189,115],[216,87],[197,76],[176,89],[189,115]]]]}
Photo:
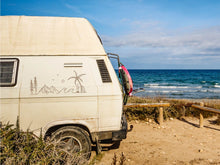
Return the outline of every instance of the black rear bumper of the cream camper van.
{"type": "Polygon", "coordinates": [[[99,141],[121,141],[122,139],[126,139],[127,137],[127,120],[125,115],[122,116],[121,120],[121,129],[118,131],[104,131],[104,132],[95,132],[91,133],[92,141],[95,142],[96,139],[99,141]]]}

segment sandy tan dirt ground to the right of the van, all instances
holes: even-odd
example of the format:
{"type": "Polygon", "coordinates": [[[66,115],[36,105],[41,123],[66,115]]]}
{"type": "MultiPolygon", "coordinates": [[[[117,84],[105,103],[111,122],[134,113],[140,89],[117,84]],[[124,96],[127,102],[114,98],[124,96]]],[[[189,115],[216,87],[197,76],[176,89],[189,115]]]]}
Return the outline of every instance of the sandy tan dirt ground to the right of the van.
{"type": "Polygon", "coordinates": [[[196,118],[169,120],[162,127],[132,121],[129,124],[134,128],[127,139],[118,149],[103,151],[104,156],[97,164],[110,165],[114,153],[120,157],[122,152],[128,165],[220,164],[220,126],[212,123],[215,119],[206,119],[204,128],[198,128],[196,118]]]}

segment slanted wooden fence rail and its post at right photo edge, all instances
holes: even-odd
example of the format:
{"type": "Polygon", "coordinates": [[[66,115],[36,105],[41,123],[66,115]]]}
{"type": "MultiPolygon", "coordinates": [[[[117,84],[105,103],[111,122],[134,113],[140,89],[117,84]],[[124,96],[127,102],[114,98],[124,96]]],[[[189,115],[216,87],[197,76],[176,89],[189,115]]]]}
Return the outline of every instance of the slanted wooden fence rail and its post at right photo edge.
{"type": "MultiPolygon", "coordinates": [[[[208,111],[208,112],[214,112],[220,114],[220,109],[214,109],[214,108],[209,108],[209,107],[204,107],[204,103],[201,102],[200,105],[192,104],[193,108],[202,110],[202,111],[208,111]]],[[[199,118],[199,127],[203,127],[203,115],[200,113],[200,118],[199,118]]]]}

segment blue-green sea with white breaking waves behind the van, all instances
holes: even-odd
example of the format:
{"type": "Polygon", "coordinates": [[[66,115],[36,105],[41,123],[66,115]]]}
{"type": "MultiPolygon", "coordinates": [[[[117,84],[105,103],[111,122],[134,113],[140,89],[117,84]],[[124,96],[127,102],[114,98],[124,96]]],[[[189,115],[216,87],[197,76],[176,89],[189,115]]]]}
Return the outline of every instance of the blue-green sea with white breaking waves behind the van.
{"type": "Polygon", "coordinates": [[[220,99],[220,70],[129,70],[134,96],[220,99]]]}

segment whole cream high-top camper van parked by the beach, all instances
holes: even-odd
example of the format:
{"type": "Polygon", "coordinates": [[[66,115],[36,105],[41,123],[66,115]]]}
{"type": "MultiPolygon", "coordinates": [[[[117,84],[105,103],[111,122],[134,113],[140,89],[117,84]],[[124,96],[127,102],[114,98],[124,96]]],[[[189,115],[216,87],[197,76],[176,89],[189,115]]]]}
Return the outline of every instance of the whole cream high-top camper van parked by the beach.
{"type": "Polygon", "coordinates": [[[1,16],[0,33],[1,123],[84,152],[126,138],[129,92],[86,19],[1,16]]]}

